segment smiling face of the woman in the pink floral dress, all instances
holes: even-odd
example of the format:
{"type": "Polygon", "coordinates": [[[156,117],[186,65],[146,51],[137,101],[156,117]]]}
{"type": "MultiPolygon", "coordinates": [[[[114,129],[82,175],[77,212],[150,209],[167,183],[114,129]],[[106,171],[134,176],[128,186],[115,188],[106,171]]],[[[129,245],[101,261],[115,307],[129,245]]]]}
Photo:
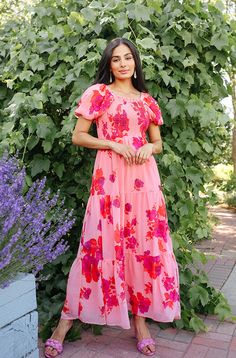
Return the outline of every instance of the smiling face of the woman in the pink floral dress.
{"type": "Polygon", "coordinates": [[[119,80],[133,76],[135,61],[128,46],[121,44],[113,50],[110,69],[113,76],[119,80]]]}

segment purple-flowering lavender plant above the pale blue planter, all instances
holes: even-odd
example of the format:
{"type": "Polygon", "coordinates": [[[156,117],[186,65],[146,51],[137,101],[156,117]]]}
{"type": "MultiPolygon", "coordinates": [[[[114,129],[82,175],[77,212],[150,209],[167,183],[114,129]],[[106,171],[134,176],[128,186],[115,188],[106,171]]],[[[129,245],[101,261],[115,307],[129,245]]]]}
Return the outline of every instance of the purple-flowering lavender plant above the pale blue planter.
{"type": "Polygon", "coordinates": [[[37,180],[24,193],[26,172],[18,158],[0,159],[0,287],[18,272],[37,274],[68,249],[64,240],[75,219],[59,192],[37,180]]]}

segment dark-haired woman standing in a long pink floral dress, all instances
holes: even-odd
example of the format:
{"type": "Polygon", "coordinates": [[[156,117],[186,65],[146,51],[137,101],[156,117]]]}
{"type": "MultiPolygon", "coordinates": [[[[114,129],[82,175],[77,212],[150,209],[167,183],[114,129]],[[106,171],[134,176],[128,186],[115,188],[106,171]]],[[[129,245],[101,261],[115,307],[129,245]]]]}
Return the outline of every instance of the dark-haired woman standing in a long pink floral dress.
{"type": "Polygon", "coordinates": [[[138,350],[153,355],[145,318],[180,318],[178,267],[153,157],[162,151],[163,120],[129,40],[108,44],[75,114],[73,144],[98,151],[78,256],[46,357],[61,353],[74,319],[128,329],[129,311],[138,350]],[[98,138],[88,133],[93,121],[98,138]]]}

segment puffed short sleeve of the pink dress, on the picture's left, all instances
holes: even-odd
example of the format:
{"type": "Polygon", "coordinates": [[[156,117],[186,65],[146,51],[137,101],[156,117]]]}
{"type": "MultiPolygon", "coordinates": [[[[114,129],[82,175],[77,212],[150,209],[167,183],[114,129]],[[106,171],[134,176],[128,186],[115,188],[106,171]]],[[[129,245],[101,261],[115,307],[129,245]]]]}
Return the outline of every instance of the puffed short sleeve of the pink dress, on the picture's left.
{"type": "Polygon", "coordinates": [[[82,94],[75,115],[91,121],[95,120],[106,112],[112,101],[113,97],[105,84],[92,85],[82,94]]]}

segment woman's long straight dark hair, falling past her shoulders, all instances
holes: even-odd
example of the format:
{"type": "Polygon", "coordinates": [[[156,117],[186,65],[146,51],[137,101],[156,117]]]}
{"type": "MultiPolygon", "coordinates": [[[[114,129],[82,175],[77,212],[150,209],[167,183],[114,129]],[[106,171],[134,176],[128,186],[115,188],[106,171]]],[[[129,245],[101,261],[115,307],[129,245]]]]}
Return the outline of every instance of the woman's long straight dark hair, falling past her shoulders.
{"type": "MultiPolygon", "coordinates": [[[[118,37],[118,38],[112,40],[111,42],[109,42],[109,44],[105,48],[105,50],[102,54],[102,58],[100,60],[98,71],[97,71],[97,74],[96,74],[93,84],[96,84],[96,83],[105,83],[106,85],[110,84],[110,64],[111,64],[112,53],[113,53],[113,50],[121,44],[129,47],[129,49],[133,55],[133,58],[134,58],[135,71],[136,71],[136,75],[137,75],[136,78],[134,78],[134,76],[132,76],[132,83],[133,83],[134,88],[136,88],[140,92],[147,92],[139,53],[131,41],[124,39],[122,37],[118,37]]],[[[113,75],[112,75],[112,79],[114,80],[113,75]]]]}

